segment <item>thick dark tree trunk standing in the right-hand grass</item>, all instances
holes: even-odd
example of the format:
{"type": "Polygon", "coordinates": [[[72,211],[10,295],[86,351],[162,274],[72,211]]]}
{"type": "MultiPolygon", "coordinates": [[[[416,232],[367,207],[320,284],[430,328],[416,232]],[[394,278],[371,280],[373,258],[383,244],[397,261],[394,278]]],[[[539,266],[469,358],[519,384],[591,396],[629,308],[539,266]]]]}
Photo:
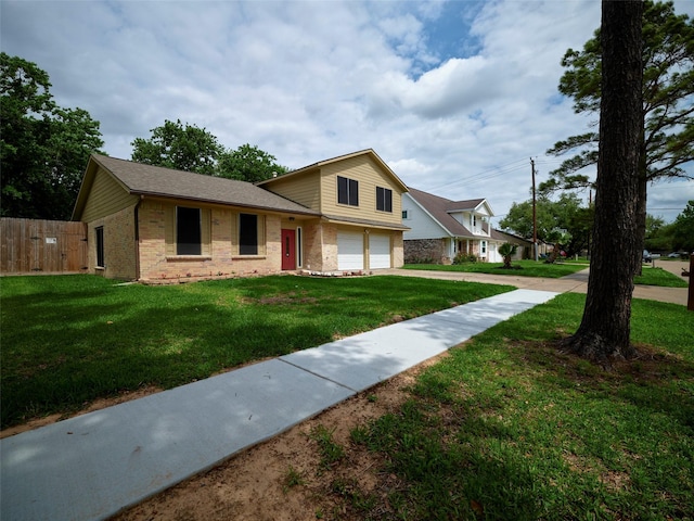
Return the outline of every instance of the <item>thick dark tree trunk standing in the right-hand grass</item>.
{"type": "Polygon", "coordinates": [[[642,62],[640,0],[602,2],[602,97],[592,260],[583,318],[563,351],[603,365],[630,358],[639,240],[642,62]]]}

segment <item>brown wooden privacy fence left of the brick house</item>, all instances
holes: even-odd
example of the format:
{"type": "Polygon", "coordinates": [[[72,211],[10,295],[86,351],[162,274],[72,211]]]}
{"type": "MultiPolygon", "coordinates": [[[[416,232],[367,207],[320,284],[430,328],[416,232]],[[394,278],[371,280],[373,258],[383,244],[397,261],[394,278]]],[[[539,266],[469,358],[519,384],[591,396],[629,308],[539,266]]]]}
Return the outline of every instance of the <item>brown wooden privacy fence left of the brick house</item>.
{"type": "Polygon", "coordinates": [[[2,275],[87,271],[85,223],[2,217],[0,245],[2,275]]]}

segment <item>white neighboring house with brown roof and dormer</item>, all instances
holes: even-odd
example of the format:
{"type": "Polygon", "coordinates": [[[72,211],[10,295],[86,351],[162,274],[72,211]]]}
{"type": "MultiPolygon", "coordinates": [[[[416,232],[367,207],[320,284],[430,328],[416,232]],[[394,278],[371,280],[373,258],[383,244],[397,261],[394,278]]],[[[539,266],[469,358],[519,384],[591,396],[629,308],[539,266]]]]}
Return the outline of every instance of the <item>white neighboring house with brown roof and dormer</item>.
{"type": "Polygon", "coordinates": [[[410,228],[404,232],[404,260],[451,264],[462,253],[501,262],[498,249],[506,241],[491,228],[491,217],[486,199],[451,201],[410,188],[402,196],[402,224],[410,228]]]}

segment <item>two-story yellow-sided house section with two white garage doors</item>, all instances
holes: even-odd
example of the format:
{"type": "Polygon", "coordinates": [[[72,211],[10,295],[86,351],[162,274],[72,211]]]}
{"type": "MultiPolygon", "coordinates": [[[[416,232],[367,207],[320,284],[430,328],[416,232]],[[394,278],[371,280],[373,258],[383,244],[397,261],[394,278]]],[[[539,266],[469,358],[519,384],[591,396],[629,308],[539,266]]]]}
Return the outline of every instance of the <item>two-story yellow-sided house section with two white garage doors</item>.
{"type": "MultiPolygon", "coordinates": [[[[303,268],[334,272],[402,266],[402,194],[408,188],[373,150],[321,161],[259,186],[321,214],[303,223],[303,268]]],[[[283,220],[282,228],[295,226],[283,220]]]]}

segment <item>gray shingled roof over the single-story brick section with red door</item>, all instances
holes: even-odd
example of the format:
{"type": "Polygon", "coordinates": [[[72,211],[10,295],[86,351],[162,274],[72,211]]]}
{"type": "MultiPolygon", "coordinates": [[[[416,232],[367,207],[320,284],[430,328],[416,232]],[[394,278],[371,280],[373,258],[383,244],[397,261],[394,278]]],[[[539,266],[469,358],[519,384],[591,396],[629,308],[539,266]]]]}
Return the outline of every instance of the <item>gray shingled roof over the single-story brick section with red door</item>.
{"type": "Polygon", "coordinates": [[[93,154],[92,158],[111,171],[132,194],[320,215],[313,209],[246,181],[143,165],[105,155],[93,154]]]}

